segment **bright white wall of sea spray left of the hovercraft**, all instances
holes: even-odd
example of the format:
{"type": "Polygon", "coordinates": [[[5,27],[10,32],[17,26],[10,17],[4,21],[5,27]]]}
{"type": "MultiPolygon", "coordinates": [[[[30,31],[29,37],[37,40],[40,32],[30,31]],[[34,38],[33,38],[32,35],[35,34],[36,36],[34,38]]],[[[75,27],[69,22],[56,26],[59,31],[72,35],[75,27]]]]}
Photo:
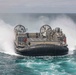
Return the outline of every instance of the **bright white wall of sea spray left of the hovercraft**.
{"type": "Polygon", "coordinates": [[[0,20],[0,52],[15,55],[13,26],[0,20]]]}

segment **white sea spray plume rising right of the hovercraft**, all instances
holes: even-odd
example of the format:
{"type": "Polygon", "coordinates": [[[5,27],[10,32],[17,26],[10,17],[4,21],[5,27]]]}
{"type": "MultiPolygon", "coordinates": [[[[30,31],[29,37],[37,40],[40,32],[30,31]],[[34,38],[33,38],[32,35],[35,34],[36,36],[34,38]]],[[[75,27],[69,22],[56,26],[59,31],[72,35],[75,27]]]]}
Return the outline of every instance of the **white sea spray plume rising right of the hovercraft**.
{"type": "Polygon", "coordinates": [[[74,50],[76,45],[76,24],[74,21],[68,16],[58,16],[55,20],[52,20],[50,25],[55,27],[60,27],[67,38],[67,45],[70,51],[74,50]]]}

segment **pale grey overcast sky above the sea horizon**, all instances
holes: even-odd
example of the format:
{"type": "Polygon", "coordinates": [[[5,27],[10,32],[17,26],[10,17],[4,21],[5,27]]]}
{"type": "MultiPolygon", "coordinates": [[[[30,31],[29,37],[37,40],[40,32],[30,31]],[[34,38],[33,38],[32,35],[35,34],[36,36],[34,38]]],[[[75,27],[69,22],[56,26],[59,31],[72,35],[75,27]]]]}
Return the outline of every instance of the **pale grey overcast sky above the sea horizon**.
{"type": "Polygon", "coordinates": [[[76,13],[76,0],[0,0],[0,13],[76,13]]]}

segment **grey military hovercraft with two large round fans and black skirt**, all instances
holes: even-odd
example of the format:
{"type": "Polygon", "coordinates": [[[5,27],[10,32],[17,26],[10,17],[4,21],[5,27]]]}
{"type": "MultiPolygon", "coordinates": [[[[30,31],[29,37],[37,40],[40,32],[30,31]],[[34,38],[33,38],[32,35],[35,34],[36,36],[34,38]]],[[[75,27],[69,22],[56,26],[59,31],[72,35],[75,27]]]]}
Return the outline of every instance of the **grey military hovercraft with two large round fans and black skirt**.
{"type": "Polygon", "coordinates": [[[43,25],[39,33],[27,33],[23,25],[15,31],[16,53],[25,56],[61,56],[68,54],[66,36],[60,28],[43,25]]]}

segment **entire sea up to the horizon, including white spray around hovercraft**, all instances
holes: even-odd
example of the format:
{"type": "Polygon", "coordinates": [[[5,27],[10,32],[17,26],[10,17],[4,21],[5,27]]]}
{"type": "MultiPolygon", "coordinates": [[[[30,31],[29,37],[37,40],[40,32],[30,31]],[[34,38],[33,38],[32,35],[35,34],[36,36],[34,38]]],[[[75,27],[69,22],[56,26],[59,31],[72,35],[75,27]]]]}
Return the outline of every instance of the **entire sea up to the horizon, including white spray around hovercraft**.
{"type": "Polygon", "coordinates": [[[76,14],[0,13],[0,75],[76,75],[76,14]],[[14,50],[14,27],[22,24],[27,32],[40,32],[48,24],[60,27],[67,37],[69,54],[59,57],[20,56],[14,50]]]}

